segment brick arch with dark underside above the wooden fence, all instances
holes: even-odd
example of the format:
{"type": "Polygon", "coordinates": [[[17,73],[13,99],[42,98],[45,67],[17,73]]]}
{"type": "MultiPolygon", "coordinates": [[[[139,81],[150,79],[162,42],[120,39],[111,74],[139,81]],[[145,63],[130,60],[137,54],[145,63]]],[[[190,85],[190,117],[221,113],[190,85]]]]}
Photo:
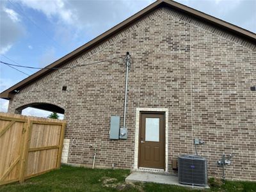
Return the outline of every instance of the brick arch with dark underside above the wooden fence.
{"type": "Polygon", "coordinates": [[[52,112],[57,112],[57,113],[62,113],[64,114],[65,108],[61,106],[60,104],[56,104],[54,102],[45,102],[44,100],[36,100],[36,102],[27,102],[19,107],[15,108],[15,113],[21,114],[23,109],[26,108],[36,108],[36,109],[43,109],[46,111],[52,111],[52,112]]]}

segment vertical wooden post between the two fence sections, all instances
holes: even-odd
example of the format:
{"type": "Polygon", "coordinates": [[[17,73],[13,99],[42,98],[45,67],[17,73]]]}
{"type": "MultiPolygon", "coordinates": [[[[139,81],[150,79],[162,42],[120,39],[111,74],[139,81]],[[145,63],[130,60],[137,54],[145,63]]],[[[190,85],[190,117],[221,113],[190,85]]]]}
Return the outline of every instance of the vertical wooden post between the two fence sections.
{"type": "Polygon", "coordinates": [[[25,129],[25,138],[24,138],[24,145],[22,147],[22,161],[20,163],[20,183],[24,182],[25,180],[25,172],[26,172],[26,166],[28,161],[28,148],[29,148],[29,141],[31,138],[31,129],[32,129],[33,123],[28,118],[28,123],[25,129]]]}

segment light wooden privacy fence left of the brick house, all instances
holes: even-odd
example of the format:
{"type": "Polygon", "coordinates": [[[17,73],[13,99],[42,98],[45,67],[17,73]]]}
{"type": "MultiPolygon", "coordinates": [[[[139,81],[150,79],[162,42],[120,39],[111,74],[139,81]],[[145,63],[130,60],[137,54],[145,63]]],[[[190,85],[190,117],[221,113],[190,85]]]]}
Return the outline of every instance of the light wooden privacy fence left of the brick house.
{"type": "Polygon", "coordinates": [[[63,120],[0,113],[0,185],[60,168],[63,120]]]}

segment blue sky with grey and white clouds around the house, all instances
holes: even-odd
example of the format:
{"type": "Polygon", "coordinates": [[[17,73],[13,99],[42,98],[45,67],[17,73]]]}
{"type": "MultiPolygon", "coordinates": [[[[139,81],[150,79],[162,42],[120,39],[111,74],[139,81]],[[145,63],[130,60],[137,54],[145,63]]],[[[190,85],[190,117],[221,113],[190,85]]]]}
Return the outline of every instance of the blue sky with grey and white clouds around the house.
{"type": "MultiPolygon", "coordinates": [[[[154,1],[0,0],[0,60],[45,67],[154,1]],[[9,60],[9,59],[10,60],[9,60]]],[[[256,33],[256,0],[177,0],[256,33]]],[[[19,68],[26,74],[36,70],[19,68]]],[[[0,64],[0,92],[26,78],[0,64]]],[[[0,99],[6,112],[8,100],[0,99]]],[[[49,113],[28,108],[24,115],[49,113]]]]}

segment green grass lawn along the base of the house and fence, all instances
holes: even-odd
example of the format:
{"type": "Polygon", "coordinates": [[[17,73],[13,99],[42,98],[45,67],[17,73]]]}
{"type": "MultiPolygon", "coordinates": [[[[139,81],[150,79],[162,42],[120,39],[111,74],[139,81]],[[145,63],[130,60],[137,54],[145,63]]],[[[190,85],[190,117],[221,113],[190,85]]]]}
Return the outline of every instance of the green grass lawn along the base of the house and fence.
{"type": "Polygon", "coordinates": [[[62,166],[23,184],[0,186],[0,191],[256,191],[256,182],[232,182],[222,184],[220,180],[209,180],[211,189],[192,189],[154,183],[126,184],[130,170],[103,170],[62,166]]]}

